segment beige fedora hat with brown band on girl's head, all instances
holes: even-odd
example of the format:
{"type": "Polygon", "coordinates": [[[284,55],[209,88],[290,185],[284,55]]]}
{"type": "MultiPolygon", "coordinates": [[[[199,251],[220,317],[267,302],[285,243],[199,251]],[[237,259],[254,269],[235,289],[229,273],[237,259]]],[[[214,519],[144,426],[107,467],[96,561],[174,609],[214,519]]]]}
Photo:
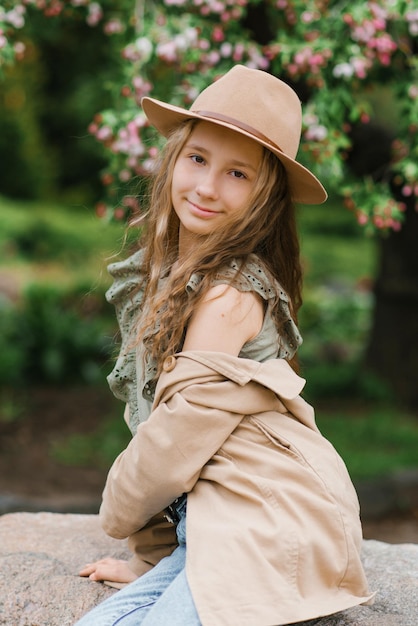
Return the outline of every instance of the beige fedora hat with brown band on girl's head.
{"type": "Polygon", "coordinates": [[[186,119],[200,119],[235,130],[265,146],[286,168],[292,198],[320,204],[327,193],[319,180],[298,163],[302,108],[289,85],[262,70],[235,65],[196,98],[190,110],[144,97],[150,123],[167,137],[186,119]]]}

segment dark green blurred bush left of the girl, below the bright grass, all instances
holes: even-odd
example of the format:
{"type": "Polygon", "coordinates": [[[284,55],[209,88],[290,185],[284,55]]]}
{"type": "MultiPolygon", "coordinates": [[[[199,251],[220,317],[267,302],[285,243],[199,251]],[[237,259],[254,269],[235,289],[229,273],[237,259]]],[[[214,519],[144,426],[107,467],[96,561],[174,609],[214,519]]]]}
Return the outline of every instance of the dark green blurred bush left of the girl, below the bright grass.
{"type": "Polygon", "coordinates": [[[85,285],[32,285],[18,305],[0,308],[2,385],[102,382],[115,332],[113,318],[103,317],[103,298],[85,285]]]}

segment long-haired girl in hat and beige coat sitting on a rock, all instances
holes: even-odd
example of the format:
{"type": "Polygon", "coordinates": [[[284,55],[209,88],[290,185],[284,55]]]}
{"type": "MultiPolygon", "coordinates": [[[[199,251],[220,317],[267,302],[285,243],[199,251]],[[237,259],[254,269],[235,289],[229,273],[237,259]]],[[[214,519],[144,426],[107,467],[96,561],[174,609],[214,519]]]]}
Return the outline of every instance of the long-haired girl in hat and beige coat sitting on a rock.
{"type": "Polygon", "coordinates": [[[81,572],[131,584],[79,626],[272,626],[368,602],[357,497],[295,371],[294,202],[326,199],[295,160],[299,100],[235,66],[190,110],[142,106],[168,139],[145,244],[110,266],[133,438],[100,509],[134,557],[81,572]]]}

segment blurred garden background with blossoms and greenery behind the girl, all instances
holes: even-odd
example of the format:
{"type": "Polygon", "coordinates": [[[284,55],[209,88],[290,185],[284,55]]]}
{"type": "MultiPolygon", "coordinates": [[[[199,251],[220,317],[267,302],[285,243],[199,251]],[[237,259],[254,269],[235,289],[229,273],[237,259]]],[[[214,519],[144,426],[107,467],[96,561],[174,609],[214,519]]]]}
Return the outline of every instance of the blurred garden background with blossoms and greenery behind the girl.
{"type": "Polygon", "coordinates": [[[367,533],[418,540],[418,13],[337,4],[0,3],[0,513],[97,510],[129,440],[104,294],[158,149],[138,102],[241,62],[297,90],[330,192],[298,207],[305,398],[367,533]]]}

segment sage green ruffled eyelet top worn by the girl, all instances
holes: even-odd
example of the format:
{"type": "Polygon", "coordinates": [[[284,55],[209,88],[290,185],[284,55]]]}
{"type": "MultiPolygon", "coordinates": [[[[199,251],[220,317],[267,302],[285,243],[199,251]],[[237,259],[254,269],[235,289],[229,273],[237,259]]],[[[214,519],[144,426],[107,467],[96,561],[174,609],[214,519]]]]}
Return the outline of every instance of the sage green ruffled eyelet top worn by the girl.
{"type": "MultiPolygon", "coordinates": [[[[129,405],[129,426],[134,434],[140,422],[145,421],[150,412],[155,391],[156,363],[149,360],[143,366],[143,359],[138,347],[135,347],[135,335],[138,315],[141,311],[143,291],[142,282],[143,252],[139,250],[127,259],[112,263],[108,271],[114,279],[106,292],[106,299],[116,309],[116,316],[121,333],[121,348],[115,367],[107,380],[114,395],[129,405]]],[[[289,311],[289,298],[279,283],[273,283],[267,277],[256,255],[250,255],[243,270],[232,261],[220,271],[213,280],[217,284],[231,284],[239,291],[254,291],[267,303],[263,326],[254,339],[244,344],[239,356],[263,362],[268,359],[291,359],[302,343],[299,330],[289,311]],[[273,299],[279,296],[279,306],[287,322],[279,336],[270,315],[273,299]]],[[[193,274],[187,283],[187,291],[195,291],[202,277],[193,274]]]]}

